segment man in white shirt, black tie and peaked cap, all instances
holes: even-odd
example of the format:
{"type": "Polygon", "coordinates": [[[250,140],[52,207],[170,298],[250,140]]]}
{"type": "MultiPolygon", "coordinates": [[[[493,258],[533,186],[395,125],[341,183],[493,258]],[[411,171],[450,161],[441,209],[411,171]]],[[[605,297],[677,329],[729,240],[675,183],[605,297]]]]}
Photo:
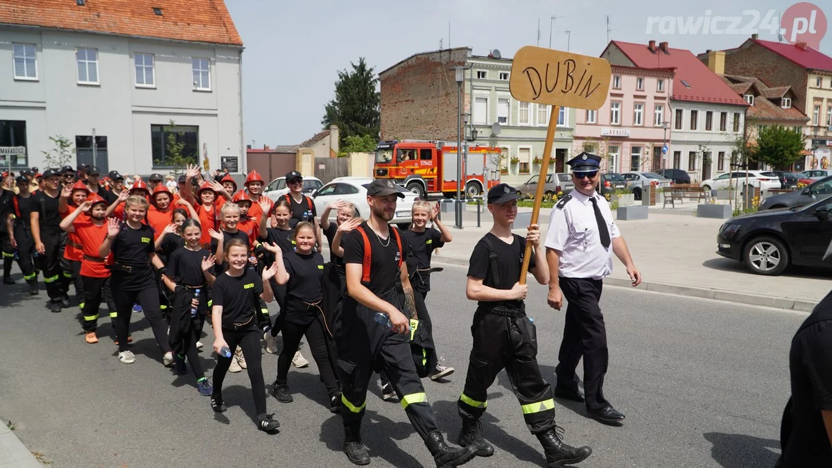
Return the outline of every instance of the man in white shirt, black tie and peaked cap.
{"type": "Polygon", "coordinates": [[[546,236],[546,260],[551,272],[547,302],[558,311],[563,296],[568,302],[555,396],[585,402],[593,419],[617,425],[625,416],[603,394],[609,351],[598,301],[602,280],[612,273],[613,253],[626,266],[633,287],[641,283],[641,272],[612,221],[607,200],[595,191],[601,178],[601,157],[582,152],[567,164],[572,167],[575,190],[552,207],[546,236]],[[578,391],[575,374],[582,357],[586,397],[578,391]]]}

